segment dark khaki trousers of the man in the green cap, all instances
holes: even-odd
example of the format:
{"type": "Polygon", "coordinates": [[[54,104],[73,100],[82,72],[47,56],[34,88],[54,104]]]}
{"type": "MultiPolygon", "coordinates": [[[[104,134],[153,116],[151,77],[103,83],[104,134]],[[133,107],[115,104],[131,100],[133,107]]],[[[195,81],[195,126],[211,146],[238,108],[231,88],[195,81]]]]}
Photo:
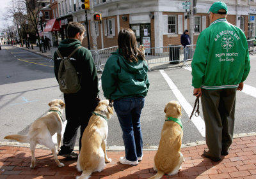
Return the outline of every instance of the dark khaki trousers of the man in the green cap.
{"type": "Polygon", "coordinates": [[[205,140],[212,157],[220,157],[233,140],[237,89],[202,89],[205,140]]]}

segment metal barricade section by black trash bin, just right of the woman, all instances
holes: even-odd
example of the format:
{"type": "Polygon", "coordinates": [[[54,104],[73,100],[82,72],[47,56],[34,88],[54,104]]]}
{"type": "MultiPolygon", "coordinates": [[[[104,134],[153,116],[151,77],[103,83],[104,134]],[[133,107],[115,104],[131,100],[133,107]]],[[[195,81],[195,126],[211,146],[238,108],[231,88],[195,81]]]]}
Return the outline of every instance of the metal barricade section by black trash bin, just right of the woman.
{"type": "Polygon", "coordinates": [[[183,60],[183,46],[169,45],[169,47],[152,47],[146,48],[145,58],[149,65],[159,63],[179,64],[183,60]],[[150,52],[150,53],[149,53],[150,52]]]}

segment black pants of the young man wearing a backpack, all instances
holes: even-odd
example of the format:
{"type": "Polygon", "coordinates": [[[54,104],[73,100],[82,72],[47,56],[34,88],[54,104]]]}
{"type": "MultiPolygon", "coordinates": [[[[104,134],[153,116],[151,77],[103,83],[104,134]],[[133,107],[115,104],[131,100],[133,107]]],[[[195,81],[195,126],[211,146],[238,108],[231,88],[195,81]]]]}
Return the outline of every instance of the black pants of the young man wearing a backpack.
{"type": "Polygon", "coordinates": [[[79,138],[79,150],[81,150],[81,139],[84,129],[88,125],[89,119],[92,116],[92,111],[95,110],[98,101],[88,99],[88,97],[79,94],[64,94],[65,112],[67,125],[63,135],[63,145],[60,148],[59,154],[70,154],[75,147],[77,129],[80,127],[81,136],[79,138]]]}

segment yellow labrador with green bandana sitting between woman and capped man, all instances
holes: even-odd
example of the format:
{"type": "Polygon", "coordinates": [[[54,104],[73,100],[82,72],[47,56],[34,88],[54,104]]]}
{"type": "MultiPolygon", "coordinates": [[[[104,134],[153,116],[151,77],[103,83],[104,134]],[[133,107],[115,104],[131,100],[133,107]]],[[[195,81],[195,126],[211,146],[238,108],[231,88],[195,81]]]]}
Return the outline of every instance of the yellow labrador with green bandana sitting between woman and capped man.
{"type": "Polygon", "coordinates": [[[159,148],[154,157],[156,175],[150,179],[162,178],[164,174],[175,175],[181,169],[184,157],[181,154],[181,140],[183,136],[180,121],[181,106],[178,101],[170,101],[164,108],[165,122],[161,131],[159,148]]]}

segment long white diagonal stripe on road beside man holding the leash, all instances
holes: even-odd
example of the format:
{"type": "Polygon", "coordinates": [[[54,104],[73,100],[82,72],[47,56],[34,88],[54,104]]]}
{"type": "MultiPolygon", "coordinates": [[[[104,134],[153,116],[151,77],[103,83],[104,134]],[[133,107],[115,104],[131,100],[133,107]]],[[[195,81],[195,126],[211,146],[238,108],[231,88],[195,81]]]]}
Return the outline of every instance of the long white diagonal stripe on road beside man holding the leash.
{"type": "MultiPolygon", "coordinates": [[[[188,117],[190,117],[191,112],[193,111],[193,107],[188,103],[188,101],[186,101],[185,97],[181,94],[180,90],[176,87],[176,85],[172,82],[171,78],[164,72],[164,70],[160,69],[159,71],[160,71],[161,75],[163,75],[164,80],[166,80],[166,82],[168,83],[173,94],[177,97],[177,99],[178,99],[179,103],[181,104],[181,106],[183,107],[183,109],[188,114],[188,117]]],[[[196,117],[195,115],[193,115],[193,117],[191,118],[191,121],[196,126],[196,128],[198,129],[200,134],[203,137],[205,137],[204,120],[200,116],[196,117]]]]}

